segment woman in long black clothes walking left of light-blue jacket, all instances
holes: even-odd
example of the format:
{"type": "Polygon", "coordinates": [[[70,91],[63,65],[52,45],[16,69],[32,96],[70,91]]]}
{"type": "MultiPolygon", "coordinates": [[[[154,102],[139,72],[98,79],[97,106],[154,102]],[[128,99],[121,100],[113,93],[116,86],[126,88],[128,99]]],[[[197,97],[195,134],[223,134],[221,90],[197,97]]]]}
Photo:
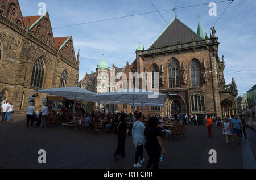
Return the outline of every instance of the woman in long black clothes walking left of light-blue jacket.
{"type": "Polygon", "coordinates": [[[117,136],[117,150],[113,155],[115,160],[118,160],[117,156],[119,156],[120,153],[122,157],[125,157],[125,140],[128,131],[125,123],[125,114],[122,113],[114,132],[114,138],[117,136]]]}

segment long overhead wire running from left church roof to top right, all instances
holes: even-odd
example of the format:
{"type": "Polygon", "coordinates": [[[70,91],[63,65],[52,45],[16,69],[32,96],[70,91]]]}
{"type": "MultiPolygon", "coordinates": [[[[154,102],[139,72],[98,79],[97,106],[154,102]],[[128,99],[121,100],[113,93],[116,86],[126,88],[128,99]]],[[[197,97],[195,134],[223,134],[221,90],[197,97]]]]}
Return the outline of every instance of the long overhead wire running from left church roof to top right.
{"type": "MultiPolygon", "coordinates": [[[[217,2],[214,2],[214,3],[221,3],[221,2],[227,2],[227,1],[234,1],[234,0],[217,1],[217,2]]],[[[185,6],[185,7],[178,7],[178,8],[176,8],[176,10],[177,10],[177,9],[181,9],[181,8],[203,6],[203,5],[208,5],[208,4],[209,4],[209,3],[204,3],[204,4],[200,4],[200,5],[185,6]]],[[[172,11],[172,10],[174,10],[174,8],[170,8],[170,9],[167,9],[167,10],[160,10],[160,11],[144,12],[144,13],[141,13],[141,14],[133,14],[133,15],[126,15],[126,16],[119,16],[119,17],[116,17],[116,18],[108,18],[108,19],[94,20],[94,21],[92,21],[92,22],[86,22],[86,23],[78,23],[78,24],[65,25],[65,26],[63,26],[63,27],[57,27],[57,28],[53,28],[53,29],[66,28],[66,27],[73,27],[73,26],[76,26],[76,25],[90,24],[90,23],[97,23],[97,22],[104,22],[104,21],[108,21],[108,20],[121,19],[121,18],[128,18],[128,17],[132,17],[132,16],[153,14],[153,13],[156,13],[156,12],[159,13],[159,12],[172,11]]]]}

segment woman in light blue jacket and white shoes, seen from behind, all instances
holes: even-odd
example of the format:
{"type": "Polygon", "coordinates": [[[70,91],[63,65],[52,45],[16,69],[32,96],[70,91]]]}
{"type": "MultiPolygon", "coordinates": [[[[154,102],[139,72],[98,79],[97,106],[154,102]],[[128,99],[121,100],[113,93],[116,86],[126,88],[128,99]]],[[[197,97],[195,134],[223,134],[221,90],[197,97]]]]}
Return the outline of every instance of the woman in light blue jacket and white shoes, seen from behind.
{"type": "Polygon", "coordinates": [[[143,145],[146,142],[144,131],[145,131],[145,126],[143,124],[143,118],[142,118],[142,113],[137,114],[137,121],[134,122],[133,128],[131,131],[131,134],[133,136],[133,144],[135,144],[136,148],[136,153],[135,153],[135,161],[134,161],[134,168],[139,168],[141,167],[141,164],[145,162],[143,158],[143,145]],[[139,157],[141,157],[141,161],[138,162],[139,157]]]}

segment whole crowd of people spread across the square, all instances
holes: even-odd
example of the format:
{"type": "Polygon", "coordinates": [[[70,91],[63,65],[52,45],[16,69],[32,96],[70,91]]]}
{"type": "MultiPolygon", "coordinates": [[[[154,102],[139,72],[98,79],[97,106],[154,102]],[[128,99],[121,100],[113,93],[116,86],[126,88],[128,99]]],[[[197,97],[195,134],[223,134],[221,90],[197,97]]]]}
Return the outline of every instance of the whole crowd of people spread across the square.
{"type": "MultiPolygon", "coordinates": [[[[2,121],[9,122],[11,114],[13,113],[13,104],[6,100],[6,103],[1,106],[2,121]]],[[[131,135],[133,144],[135,147],[134,168],[139,168],[144,164],[143,151],[146,149],[148,156],[150,157],[146,168],[157,169],[159,165],[160,155],[164,154],[164,147],[162,141],[162,132],[166,132],[167,135],[171,135],[170,130],[165,130],[163,124],[170,121],[180,122],[180,125],[198,125],[198,117],[196,114],[187,113],[174,113],[171,117],[163,117],[159,114],[155,114],[152,117],[145,117],[141,112],[128,113],[121,110],[118,112],[108,112],[108,110],[102,109],[100,111],[94,110],[91,113],[86,113],[84,109],[80,108],[68,113],[68,110],[63,106],[60,112],[55,110],[49,110],[48,105],[44,104],[43,108],[36,113],[35,103],[31,104],[27,108],[27,123],[26,127],[33,127],[35,119],[39,119],[38,126],[46,127],[47,118],[51,115],[59,115],[60,118],[67,118],[69,122],[74,119],[81,119],[86,122],[86,127],[92,128],[93,122],[99,122],[101,132],[109,132],[111,127],[114,128],[114,138],[117,137],[117,148],[113,157],[118,161],[119,156],[125,157],[125,142],[126,136],[131,135]]],[[[236,145],[241,144],[242,134],[246,139],[245,132],[245,118],[240,115],[232,115],[232,117],[213,117],[206,115],[204,118],[205,126],[209,136],[212,137],[212,126],[221,126],[222,133],[225,137],[226,144],[231,142],[232,135],[234,135],[234,142],[236,145]]],[[[92,128],[92,130],[95,130],[92,128]]]]}

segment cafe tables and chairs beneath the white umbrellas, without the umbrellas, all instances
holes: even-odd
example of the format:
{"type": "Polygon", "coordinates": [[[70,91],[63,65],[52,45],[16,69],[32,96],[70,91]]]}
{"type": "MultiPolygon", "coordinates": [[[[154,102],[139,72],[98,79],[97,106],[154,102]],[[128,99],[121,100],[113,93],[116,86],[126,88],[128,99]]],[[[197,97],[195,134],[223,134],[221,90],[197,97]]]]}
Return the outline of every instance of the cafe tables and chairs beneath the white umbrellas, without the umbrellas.
{"type": "MultiPolygon", "coordinates": [[[[71,117],[73,112],[67,112],[67,114],[63,115],[62,113],[56,113],[56,114],[49,114],[47,115],[47,126],[48,127],[57,127],[57,126],[69,126],[73,130],[82,130],[87,132],[88,130],[92,133],[110,133],[115,130],[115,126],[117,125],[117,122],[114,121],[115,115],[112,114],[112,118],[110,121],[107,120],[106,117],[99,118],[99,117],[93,117],[91,120],[91,123],[89,123],[89,126],[87,126],[87,122],[85,121],[85,118],[89,115],[87,114],[76,114],[76,118],[69,119],[71,117]],[[106,126],[108,124],[108,129],[106,129],[106,126]]],[[[144,116],[143,116],[144,117],[144,116]]],[[[131,128],[133,127],[133,122],[130,120],[131,118],[129,115],[125,118],[125,122],[127,125],[127,128],[130,130],[129,135],[131,135],[131,128]]],[[[144,117],[144,125],[147,127],[147,121],[149,117],[144,117]]],[[[38,126],[40,126],[40,118],[37,119],[38,126]]],[[[171,139],[184,139],[185,140],[185,130],[187,127],[183,126],[178,121],[171,121],[160,118],[159,121],[159,128],[162,130],[162,136],[166,138],[171,139]],[[167,130],[167,131],[166,131],[167,130]]]]}

